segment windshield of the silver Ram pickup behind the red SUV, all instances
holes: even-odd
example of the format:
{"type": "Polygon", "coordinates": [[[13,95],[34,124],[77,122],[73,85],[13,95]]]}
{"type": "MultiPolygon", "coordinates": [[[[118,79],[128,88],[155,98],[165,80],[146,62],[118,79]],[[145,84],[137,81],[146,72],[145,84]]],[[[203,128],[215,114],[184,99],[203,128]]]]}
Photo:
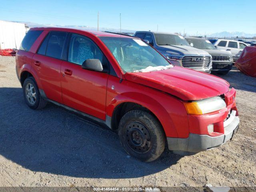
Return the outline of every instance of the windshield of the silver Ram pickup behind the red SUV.
{"type": "Polygon", "coordinates": [[[190,46],[190,44],[187,42],[187,40],[180,36],[175,34],[161,34],[161,33],[155,33],[156,38],[156,44],[158,45],[186,45],[190,46]]]}

